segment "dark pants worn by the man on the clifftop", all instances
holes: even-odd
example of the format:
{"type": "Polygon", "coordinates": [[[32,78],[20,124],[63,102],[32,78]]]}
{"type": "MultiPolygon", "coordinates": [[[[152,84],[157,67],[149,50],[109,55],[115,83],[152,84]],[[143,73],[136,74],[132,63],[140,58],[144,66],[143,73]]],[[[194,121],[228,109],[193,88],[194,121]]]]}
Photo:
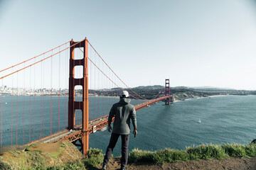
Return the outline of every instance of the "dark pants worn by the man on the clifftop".
{"type": "MultiPolygon", "coordinates": [[[[104,157],[103,165],[107,165],[107,162],[110,160],[111,154],[113,152],[114,146],[117,143],[120,134],[113,133],[110,137],[110,144],[107,147],[107,151],[104,157]]],[[[121,159],[121,168],[124,168],[128,162],[128,145],[129,145],[129,135],[121,135],[122,138],[122,159],[121,159]]]]}

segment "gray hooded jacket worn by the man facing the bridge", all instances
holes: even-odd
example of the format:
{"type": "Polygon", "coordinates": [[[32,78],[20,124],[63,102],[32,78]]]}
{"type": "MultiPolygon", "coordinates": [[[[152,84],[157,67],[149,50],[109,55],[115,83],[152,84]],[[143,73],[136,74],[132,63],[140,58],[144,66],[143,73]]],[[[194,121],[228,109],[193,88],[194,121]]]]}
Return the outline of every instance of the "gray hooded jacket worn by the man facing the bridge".
{"type": "Polygon", "coordinates": [[[133,127],[137,127],[136,111],[130,101],[129,98],[120,98],[119,103],[115,103],[110,109],[108,124],[110,125],[114,117],[112,132],[120,135],[129,135],[131,119],[133,127]]]}

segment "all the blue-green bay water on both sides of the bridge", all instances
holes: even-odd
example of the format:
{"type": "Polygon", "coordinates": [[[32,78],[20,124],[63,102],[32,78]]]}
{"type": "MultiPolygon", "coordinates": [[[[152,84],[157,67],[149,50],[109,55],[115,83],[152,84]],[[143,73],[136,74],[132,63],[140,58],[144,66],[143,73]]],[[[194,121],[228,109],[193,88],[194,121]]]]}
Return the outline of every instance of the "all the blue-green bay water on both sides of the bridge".
{"type": "MultiPolygon", "coordinates": [[[[18,145],[49,135],[50,97],[45,96],[44,107],[42,107],[40,96],[36,96],[35,105],[33,105],[32,96],[31,98],[30,96],[18,96],[18,107],[16,107],[15,100],[16,96],[13,98],[4,96],[3,98],[2,145],[11,145],[11,140],[13,145],[16,144],[17,125],[18,145]],[[13,100],[13,106],[11,106],[11,100],[13,100]],[[33,128],[34,106],[35,128],[33,128]],[[29,107],[31,107],[31,113],[29,113],[29,107]],[[11,113],[13,113],[12,139],[11,113]],[[16,113],[18,113],[18,119],[16,113]],[[30,131],[29,124],[31,124],[30,131]]],[[[58,96],[52,98],[52,133],[58,131],[58,101],[58,96]]],[[[90,119],[108,114],[112,103],[117,101],[119,101],[118,98],[111,100],[110,98],[90,98],[90,119]],[[96,106],[104,107],[97,108],[96,106]]],[[[129,151],[134,148],[150,151],[166,147],[186,149],[189,146],[209,143],[248,144],[256,138],[255,101],[256,96],[218,96],[178,101],[172,103],[171,106],[163,106],[164,103],[159,102],[143,108],[137,111],[138,135],[135,138],[134,135],[130,135],[129,151]],[[198,122],[199,120],[201,123],[198,122]]],[[[67,103],[66,97],[60,97],[60,130],[67,125],[67,103]]],[[[138,101],[133,101],[133,103],[138,103],[138,101]]],[[[76,122],[80,123],[80,120],[78,113],[76,122]]],[[[105,153],[110,135],[111,133],[107,130],[90,134],[89,146],[102,149],[105,153]]],[[[121,138],[113,154],[114,156],[121,155],[121,138]]]]}

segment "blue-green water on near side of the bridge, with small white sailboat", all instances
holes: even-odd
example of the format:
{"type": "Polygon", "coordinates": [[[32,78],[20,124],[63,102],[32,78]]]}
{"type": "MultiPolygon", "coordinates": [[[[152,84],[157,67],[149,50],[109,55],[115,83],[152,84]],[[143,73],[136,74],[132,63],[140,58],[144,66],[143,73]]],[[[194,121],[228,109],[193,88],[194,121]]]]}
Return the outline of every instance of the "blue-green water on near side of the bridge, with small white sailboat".
{"type": "MultiPolygon", "coordinates": [[[[218,96],[162,102],[137,112],[138,135],[130,135],[129,151],[134,148],[186,149],[201,144],[248,144],[256,138],[256,96],[218,96]],[[201,123],[198,123],[198,120],[201,123]]],[[[110,132],[90,135],[90,147],[105,153],[110,132]]],[[[121,155],[121,139],[114,156],[121,155]]]]}

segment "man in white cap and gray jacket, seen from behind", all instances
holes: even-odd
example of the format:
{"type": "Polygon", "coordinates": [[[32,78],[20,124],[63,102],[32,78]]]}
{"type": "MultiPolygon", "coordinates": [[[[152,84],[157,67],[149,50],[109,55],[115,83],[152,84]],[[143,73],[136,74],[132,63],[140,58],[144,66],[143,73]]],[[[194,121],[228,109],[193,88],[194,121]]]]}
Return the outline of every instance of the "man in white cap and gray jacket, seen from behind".
{"type": "Polygon", "coordinates": [[[110,137],[110,144],[107,147],[107,151],[104,157],[102,169],[107,169],[107,163],[110,160],[114,146],[117,143],[119,135],[122,138],[122,159],[121,159],[121,169],[125,169],[128,162],[128,145],[129,145],[129,133],[130,133],[130,120],[132,119],[132,125],[134,127],[133,134],[134,137],[137,135],[137,120],[136,111],[132,104],[130,104],[130,99],[128,91],[122,91],[120,96],[120,101],[115,103],[111,110],[108,118],[108,128],[107,130],[111,132],[111,122],[114,117],[112,135],[110,137]]]}

